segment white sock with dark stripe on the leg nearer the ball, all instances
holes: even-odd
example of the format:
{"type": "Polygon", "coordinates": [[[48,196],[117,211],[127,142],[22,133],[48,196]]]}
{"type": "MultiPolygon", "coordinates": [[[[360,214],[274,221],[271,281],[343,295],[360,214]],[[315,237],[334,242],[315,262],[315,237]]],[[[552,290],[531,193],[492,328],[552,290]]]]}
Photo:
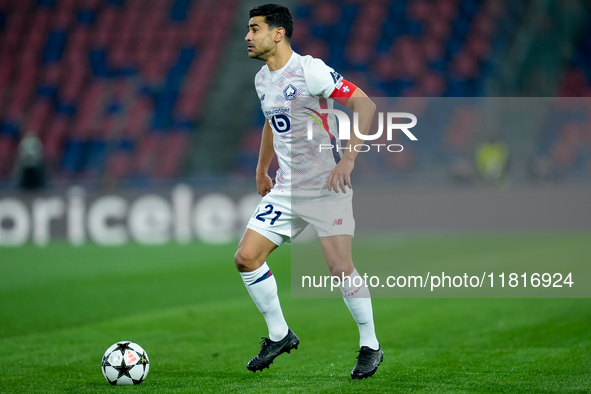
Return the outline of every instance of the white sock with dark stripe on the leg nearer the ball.
{"type": "Polygon", "coordinates": [[[289,328],[279,304],[277,282],[267,263],[265,262],[257,270],[241,272],[240,275],[248,294],[265,317],[269,328],[269,339],[277,342],[285,338],[289,328]]]}

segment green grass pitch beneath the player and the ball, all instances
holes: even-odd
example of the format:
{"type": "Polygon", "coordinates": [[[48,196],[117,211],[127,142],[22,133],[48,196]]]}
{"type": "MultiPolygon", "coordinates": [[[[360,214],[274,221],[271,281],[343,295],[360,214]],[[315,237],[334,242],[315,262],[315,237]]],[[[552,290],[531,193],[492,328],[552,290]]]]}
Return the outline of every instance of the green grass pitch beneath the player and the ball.
{"type": "MultiPolygon", "coordinates": [[[[527,242],[547,254],[564,239],[569,258],[591,262],[585,234],[527,242]]],[[[515,253],[515,240],[496,236],[489,246],[503,258],[503,242],[515,253]]],[[[423,258],[474,256],[461,236],[447,238],[445,256],[438,242],[393,247],[400,258],[418,248],[423,258]]],[[[269,264],[300,348],[249,372],[266,328],[234,248],[0,249],[0,392],[591,392],[590,299],[374,299],[385,359],[375,376],[352,381],[355,323],[342,300],[291,298],[288,247],[269,264]],[[100,370],[103,352],[124,339],[150,357],[137,387],[111,387],[100,370]]]]}

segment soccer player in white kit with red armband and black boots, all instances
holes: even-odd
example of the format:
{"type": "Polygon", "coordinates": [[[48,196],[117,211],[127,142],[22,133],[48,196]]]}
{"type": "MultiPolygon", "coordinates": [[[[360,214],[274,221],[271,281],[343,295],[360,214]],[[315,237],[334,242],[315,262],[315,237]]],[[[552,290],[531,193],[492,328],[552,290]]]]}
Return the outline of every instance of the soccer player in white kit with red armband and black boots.
{"type": "MultiPolygon", "coordinates": [[[[305,109],[322,119],[323,142],[335,147],[338,141],[331,133],[336,130],[334,116],[329,118],[321,110],[331,109],[333,100],[342,103],[358,114],[359,131],[366,134],[375,104],[322,60],[295,53],[290,45],[292,33],[293,19],[286,7],[266,4],[250,11],[245,37],[248,55],[266,63],[255,77],[266,117],[256,169],[257,190],[263,198],[234,260],[265,318],[269,337],[247,368],[253,372],[268,368],[275,357],[298,347],[299,338],[283,317],[277,283],[266,260],[275,248],[311,224],[320,237],[330,274],[347,279],[340,288],[360,334],[359,355],[351,378],[363,379],[376,372],[384,353],[375,334],[369,289],[351,257],[355,222],[350,175],[357,152],[319,149],[318,139],[306,138],[308,115],[295,108],[296,102],[304,100],[305,109]],[[279,161],[275,184],[268,174],[274,155],[279,161]]],[[[349,147],[362,142],[352,133],[349,147]]]]}

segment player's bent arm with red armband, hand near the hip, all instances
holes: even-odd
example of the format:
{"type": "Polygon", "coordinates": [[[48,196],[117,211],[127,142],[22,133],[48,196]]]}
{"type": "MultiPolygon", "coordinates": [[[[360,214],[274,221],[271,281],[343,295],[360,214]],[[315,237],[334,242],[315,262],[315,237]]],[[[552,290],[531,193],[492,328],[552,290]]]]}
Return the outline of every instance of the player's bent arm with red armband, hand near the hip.
{"type": "MultiPolygon", "coordinates": [[[[335,93],[333,93],[332,97],[335,97],[335,100],[337,100],[339,103],[345,105],[347,108],[358,114],[359,132],[365,135],[369,133],[373,116],[376,111],[376,105],[361,89],[348,81],[343,82],[344,86],[349,87],[351,94],[339,93],[339,91],[342,92],[343,90],[347,90],[341,88],[340,90],[335,89],[335,93]]],[[[353,147],[363,143],[364,141],[357,137],[356,133],[351,133],[351,139],[349,140],[348,146],[353,147]]],[[[341,161],[332,170],[327,180],[328,190],[332,190],[336,193],[339,192],[339,187],[343,193],[347,192],[345,185],[352,187],[351,172],[353,171],[353,167],[355,167],[355,158],[359,153],[356,152],[355,149],[346,149],[344,152],[345,153],[343,154],[341,161]]]]}

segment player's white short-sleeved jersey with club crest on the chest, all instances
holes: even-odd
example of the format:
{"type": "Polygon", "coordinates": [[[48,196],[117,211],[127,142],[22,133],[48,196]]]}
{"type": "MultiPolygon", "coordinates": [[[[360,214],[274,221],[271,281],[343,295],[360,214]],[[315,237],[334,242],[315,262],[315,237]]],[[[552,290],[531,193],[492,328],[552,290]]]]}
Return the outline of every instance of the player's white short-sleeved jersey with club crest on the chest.
{"type": "Polygon", "coordinates": [[[293,53],[283,68],[264,65],[255,77],[261,109],[273,130],[279,161],[278,191],[318,190],[340,160],[336,117],[324,115],[322,130],[314,121],[308,140],[308,120],[319,119],[320,109],[332,109],[328,97],[342,85],[342,77],[320,59],[293,53]],[[324,144],[322,150],[320,144],[324,144]],[[334,148],[326,148],[332,145],[334,148]]]}

